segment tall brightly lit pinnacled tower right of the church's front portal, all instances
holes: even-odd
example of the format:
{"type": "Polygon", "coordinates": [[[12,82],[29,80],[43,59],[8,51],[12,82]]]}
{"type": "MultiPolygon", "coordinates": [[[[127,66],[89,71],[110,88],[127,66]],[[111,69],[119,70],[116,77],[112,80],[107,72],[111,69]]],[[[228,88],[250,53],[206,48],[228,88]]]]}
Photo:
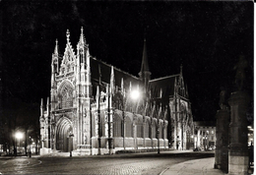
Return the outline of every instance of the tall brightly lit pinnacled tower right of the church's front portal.
{"type": "Polygon", "coordinates": [[[92,82],[90,67],[89,44],[86,43],[84,29],[81,28],[80,39],[77,44],[77,116],[80,136],[78,145],[90,145],[91,138],[91,102],[92,102],[92,82]]]}

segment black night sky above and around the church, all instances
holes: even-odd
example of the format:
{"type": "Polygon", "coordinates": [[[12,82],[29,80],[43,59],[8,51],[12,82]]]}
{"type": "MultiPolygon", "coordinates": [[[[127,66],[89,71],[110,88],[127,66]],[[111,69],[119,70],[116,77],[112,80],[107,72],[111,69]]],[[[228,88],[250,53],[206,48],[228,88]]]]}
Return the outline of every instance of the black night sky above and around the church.
{"type": "Polygon", "coordinates": [[[152,79],[178,74],[182,64],[195,120],[215,120],[220,87],[235,90],[240,55],[248,61],[245,88],[252,96],[253,2],[2,1],[0,7],[5,99],[46,99],[55,39],[63,54],[69,29],[76,50],[81,27],[93,56],[134,76],[145,35],[152,79]]]}

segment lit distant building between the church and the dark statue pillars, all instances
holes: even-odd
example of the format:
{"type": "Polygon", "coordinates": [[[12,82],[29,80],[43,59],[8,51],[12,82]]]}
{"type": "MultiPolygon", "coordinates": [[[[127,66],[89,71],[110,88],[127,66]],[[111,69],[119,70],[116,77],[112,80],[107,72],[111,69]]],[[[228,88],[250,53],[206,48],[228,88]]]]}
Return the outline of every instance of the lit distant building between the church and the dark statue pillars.
{"type": "Polygon", "coordinates": [[[210,146],[216,146],[216,122],[194,122],[194,127],[194,147],[206,150],[210,146]]]}

